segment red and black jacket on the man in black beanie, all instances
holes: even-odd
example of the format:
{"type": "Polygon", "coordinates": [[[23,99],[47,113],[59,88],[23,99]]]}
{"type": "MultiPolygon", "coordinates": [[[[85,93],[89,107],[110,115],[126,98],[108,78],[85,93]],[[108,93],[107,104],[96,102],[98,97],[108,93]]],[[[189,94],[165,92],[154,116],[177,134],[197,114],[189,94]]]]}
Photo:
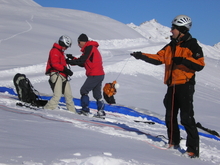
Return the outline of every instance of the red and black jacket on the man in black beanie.
{"type": "Polygon", "coordinates": [[[71,60],[70,64],[85,67],[87,76],[104,75],[102,56],[98,50],[98,46],[99,44],[96,41],[86,42],[81,49],[83,54],[79,58],[71,60]]]}

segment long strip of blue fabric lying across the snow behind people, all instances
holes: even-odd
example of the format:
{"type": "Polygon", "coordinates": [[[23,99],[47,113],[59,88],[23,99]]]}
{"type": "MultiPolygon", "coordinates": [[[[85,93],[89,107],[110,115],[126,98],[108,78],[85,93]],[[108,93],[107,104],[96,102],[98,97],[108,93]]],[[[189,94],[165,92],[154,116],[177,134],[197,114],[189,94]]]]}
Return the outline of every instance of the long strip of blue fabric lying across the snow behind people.
{"type": "MultiPolygon", "coordinates": [[[[11,95],[17,96],[17,94],[14,92],[13,88],[0,87],[0,92],[2,92],[2,93],[9,93],[11,95]]],[[[49,100],[51,98],[49,96],[40,96],[40,97],[43,100],[49,100]]],[[[73,101],[74,101],[75,105],[78,105],[78,106],[81,105],[80,99],[74,98],[73,101]]],[[[61,97],[60,102],[65,103],[64,97],[61,97]]],[[[95,101],[90,101],[89,107],[93,108],[93,109],[96,109],[97,108],[96,102],[95,101]]],[[[149,116],[149,115],[137,112],[137,111],[135,111],[135,110],[133,110],[131,108],[127,108],[127,107],[124,107],[124,106],[105,104],[105,108],[104,109],[105,109],[105,111],[109,111],[109,112],[117,112],[117,113],[121,113],[121,114],[124,114],[124,115],[146,118],[147,120],[151,120],[153,122],[165,125],[165,122],[160,120],[160,119],[158,119],[157,117],[149,116]]],[[[179,125],[179,128],[182,129],[182,130],[185,130],[185,128],[182,125],[179,125]]],[[[216,137],[214,135],[210,135],[210,134],[206,134],[206,133],[202,133],[202,132],[199,132],[199,135],[204,136],[204,137],[208,137],[208,138],[212,138],[212,139],[216,139],[216,140],[220,141],[220,138],[218,138],[218,137],[216,137]]]]}

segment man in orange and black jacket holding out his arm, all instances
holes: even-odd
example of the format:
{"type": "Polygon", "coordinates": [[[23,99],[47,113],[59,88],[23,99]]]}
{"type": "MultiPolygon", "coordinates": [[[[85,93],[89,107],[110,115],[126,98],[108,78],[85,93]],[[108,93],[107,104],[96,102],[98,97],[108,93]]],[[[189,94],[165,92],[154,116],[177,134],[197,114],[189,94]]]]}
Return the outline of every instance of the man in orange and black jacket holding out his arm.
{"type": "Polygon", "coordinates": [[[204,57],[197,40],[189,30],[190,17],[179,15],[172,21],[171,42],[157,54],[133,52],[136,59],[154,65],[165,64],[164,83],[168,86],[164,98],[166,108],[165,122],[168,133],[168,148],[177,148],[180,143],[180,131],[177,115],[180,109],[181,124],[187,133],[186,155],[199,157],[199,135],[193,111],[195,72],[204,68],[204,57]]]}

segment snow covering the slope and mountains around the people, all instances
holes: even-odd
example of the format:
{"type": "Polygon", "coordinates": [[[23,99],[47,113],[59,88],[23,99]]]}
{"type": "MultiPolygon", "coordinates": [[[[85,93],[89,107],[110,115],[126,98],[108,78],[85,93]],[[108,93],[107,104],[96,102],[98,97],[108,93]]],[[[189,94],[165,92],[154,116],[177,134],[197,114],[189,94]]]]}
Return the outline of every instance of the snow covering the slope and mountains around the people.
{"type": "MultiPolygon", "coordinates": [[[[66,53],[79,56],[76,40],[86,33],[100,44],[106,72],[103,84],[114,80],[120,84],[115,96],[117,105],[164,120],[164,66],[135,60],[129,54],[156,53],[169,42],[168,27],[155,20],[140,26],[125,25],[84,11],[44,8],[32,0],[0,0],[0,14],[0,87],[14,88],[14,75],[24,73],[39,92],[51,95],[44,72],[52,44],[67,34],[73,46],[66,53]]],[[[200,45],[206,66],[196,76],[195,118],[220,132],[219,43],[213,47],[200,45]]],[[[71,68],[72,92],[80,98],[85,71],[71,68]]],[[[92,95],[90,98],[93,100],[92,95]]],[[[182,150],[163,148],[167,142],[163,124],[134,122],[146,118],[107,112],[107,119],[101,120],[72,114],[65,106],[54,111],[20,108],[15,106],[16,101],[15,96],[0,93],[0,164],[220,164],[219,140],[200,136],[200,158],[189,159],[182,156],[185,140],[181,142],[182,150]]],[[[184,130],[181,136],[186,137],[184,130]]]]}

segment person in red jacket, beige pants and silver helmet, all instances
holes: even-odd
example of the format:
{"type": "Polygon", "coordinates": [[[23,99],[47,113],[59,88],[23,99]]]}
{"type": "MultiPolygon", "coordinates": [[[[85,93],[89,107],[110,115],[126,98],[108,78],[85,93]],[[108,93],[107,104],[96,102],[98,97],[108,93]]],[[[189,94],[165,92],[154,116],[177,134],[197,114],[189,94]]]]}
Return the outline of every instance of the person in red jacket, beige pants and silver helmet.
{"type": "Polygon", "coordinates": [[[72,76],[73,72],[67,68],[64,55],[64,51],[69,48],[71,44],[71,38],[62,35],[58,43],[54,43],[50,50],[46,66],[46,75],[50,76],[49,83],[53,90],[53,97],[44,106],[44,109],[55,109],[63,94],[66,100],[67,109],[76,113],[70,83],[68,81],[68,76],[72,76]]]}

